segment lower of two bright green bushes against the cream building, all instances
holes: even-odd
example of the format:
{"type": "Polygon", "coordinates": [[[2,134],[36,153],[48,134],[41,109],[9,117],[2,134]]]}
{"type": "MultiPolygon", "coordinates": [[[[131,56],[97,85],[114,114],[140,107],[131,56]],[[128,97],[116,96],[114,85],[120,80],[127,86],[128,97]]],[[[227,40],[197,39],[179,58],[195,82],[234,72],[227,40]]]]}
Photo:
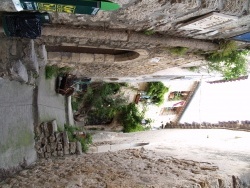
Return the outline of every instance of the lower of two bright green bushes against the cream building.
{"type": "Polygon", "coordinates": [[[129,133],[146,130],[141,124],[143,119],[144,113],[139,112],[134,103],[122,107],[119,122],[123,125],[123,132],[129,133]]]}

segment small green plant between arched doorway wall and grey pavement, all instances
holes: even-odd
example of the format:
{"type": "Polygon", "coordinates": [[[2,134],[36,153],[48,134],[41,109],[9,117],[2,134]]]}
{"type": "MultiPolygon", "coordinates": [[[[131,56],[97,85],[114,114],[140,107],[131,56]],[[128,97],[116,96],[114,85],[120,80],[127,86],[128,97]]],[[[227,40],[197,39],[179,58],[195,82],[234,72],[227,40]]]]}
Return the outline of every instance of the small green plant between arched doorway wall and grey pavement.
{"type": "Polygon", "coordinates": [[[60,74],[69,73],[70,67],[58,67],[56,65],[46,65],[45,67],[45,78],[52,79],[60,74]]]}

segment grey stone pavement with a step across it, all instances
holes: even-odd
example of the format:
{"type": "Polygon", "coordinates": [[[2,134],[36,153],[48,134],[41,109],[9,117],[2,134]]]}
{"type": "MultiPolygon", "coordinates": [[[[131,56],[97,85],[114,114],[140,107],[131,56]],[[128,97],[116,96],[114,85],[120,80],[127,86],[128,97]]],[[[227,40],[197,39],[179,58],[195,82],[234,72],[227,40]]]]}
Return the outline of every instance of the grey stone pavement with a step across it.
{"type": "Polygon", "coordinates": [[[40,70],[37,88],[0,78],[0,180],[37,159],[34,128],[43,121],[66,123],[65,98],[55,79],[40,70]]]}

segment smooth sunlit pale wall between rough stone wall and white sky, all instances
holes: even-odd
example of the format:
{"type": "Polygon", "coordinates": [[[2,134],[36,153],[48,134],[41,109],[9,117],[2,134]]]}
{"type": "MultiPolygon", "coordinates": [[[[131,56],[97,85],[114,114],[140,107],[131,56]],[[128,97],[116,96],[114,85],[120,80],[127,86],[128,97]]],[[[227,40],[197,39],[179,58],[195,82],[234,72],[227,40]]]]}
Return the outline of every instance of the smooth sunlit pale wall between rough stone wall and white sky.
{"type": "Polygon", "coordinates": [[[237,175],[250,185],[249,132],[165,129],[133,134],[99,133],[94,141],[108,141],[116,148],[128,143],[149,143],[145,149],[178,159],[212,163],[222,173],[237,175]]]}

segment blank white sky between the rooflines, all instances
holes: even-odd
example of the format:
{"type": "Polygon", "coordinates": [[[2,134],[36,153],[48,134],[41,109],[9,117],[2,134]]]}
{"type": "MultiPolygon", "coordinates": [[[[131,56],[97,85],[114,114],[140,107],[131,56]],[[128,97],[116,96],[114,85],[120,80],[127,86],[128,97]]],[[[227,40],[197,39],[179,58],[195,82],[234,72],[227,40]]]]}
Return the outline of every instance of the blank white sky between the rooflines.
{"type": "Polygon", "coordinates": [[[250,79],[209,84],[201,82],[180,123],[250,120],[250,79]]]}

